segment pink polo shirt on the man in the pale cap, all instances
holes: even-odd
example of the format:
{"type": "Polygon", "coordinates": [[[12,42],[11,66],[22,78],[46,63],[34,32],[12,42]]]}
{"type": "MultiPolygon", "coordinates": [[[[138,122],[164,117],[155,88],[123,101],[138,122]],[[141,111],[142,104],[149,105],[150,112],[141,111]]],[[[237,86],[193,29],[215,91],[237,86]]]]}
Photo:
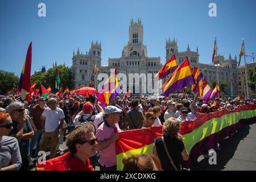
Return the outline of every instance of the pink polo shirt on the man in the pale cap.
{"type": "MultiPolygon", "coordinates": [[[[120,132],[118,123],[115,123],[117,131],[120,132]]],[[[114,134],[114,127],[110,126],[106,121],[101,124],[100,127],[96,130],[96,137],[99,142],[104,142],[105,140],[110,139],[114,134]]],[[[115,152],[115,142],[110,144],[107,148],[100,152],[100,159],[98,162],[101,166],[112,167],[117,165],[117,154],[115,152]]]]}

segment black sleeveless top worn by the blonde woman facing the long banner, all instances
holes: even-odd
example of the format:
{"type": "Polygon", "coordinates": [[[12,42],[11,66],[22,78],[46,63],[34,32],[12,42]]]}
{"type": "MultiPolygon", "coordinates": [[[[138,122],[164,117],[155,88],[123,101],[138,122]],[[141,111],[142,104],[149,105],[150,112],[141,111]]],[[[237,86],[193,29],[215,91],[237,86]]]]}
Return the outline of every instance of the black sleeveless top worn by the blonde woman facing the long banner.
{"type": "MultiPolygon", "coordinates": [[[[181,164],[181,152],[184,149],[184,143],[177,138],[164,137],[164,142],[166,143],[167,150],[174,161],[176,168],[180,169],[181,164]]],[[[170,160],[164,149],[162,137],[155,139],[156,151],[158,152],[158,158],[162,164],[162,169],[164,171],[175,171],[174,167],[170,163],[170,160]]]]}

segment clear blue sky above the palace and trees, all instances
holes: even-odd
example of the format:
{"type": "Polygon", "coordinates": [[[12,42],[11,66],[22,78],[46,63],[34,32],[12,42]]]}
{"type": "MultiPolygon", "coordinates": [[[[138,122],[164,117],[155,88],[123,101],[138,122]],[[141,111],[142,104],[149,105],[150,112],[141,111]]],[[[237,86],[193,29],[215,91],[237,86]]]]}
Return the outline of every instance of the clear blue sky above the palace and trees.
{"type": "Polygon", "coordinates": [[[31,73],[42,65],[51,68],[55,61],[71,67],[73,50],[89,51],[92,40],[101,41],[106,64],[109,57],[121,57],[131,18],[141,18],[148,56],[160,56],[162,63],[169,37],[177,38],[179,51],[188,43],[191,51],[198,46],[201,63],[210,63],[214,36],[225,58],[239,55],[242,38],[246,54],[256,54],[255,5],[254,0],[1,0],[0,69],[19,76],[31,41],[31,73]],[[40,2],[46,4],[46,17],[38,16],[40,2]],[[211,2],[217,5],[217,17],[208,15],[211,2]]]}

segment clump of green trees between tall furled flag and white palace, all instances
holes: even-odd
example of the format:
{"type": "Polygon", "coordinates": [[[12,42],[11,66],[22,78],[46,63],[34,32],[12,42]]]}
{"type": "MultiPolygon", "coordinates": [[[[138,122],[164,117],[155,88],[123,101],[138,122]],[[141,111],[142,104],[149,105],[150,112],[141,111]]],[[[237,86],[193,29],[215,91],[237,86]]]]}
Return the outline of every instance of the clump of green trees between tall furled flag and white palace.
{"type": "MultiPolygon", "coordinates": [[[[68,86],[69,89],[73,88],[72,83],[72,73],[68,67],[65,67],[63,65],[57,66],[59,69],[59,75],[60,75],[60,84],[63,85],[63,91],[66,86],[68,86]]],[[[55,89],[55,80],[56,80],[56,67],[50,68],[47,70],[47,72],[36,72],[34,75],[31,76],[31,84],[33,82],[36,82],[37,85],[40,86],[40,83],[47,88],[47,86],[51,86],[51,89],[54,92],[57,92],[55,89]]],[[[36,85],[36,86],[37,86],[36,85]]]]}

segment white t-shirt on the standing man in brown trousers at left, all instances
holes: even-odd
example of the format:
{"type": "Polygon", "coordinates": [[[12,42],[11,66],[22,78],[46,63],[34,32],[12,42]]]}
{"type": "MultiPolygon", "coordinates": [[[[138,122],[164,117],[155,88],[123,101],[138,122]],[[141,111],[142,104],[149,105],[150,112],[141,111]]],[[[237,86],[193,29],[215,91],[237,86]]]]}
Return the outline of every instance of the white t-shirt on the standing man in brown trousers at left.
{"type": "Polygon", "coordinates": [[[59,126],[60,119],[65,118],[63,110],[59,107],[55,110],[51,110],[49,107],[46,107],[42,115],[46,118],[46,123],[44,125],[44,130],[46,132],[55,131],[59,126]]]}

